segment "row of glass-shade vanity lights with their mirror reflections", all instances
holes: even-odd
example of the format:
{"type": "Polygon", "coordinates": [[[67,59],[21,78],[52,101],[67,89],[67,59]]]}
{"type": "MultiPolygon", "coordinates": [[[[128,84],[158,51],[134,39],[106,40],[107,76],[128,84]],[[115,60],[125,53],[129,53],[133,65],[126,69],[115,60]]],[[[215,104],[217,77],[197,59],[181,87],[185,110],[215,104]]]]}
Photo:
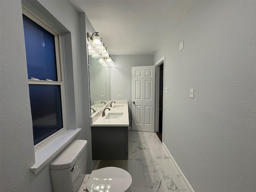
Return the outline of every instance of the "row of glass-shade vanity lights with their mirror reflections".
{"type": "Polygon", "coordinates": [[[108,54],[108,50],[102,43],[98,32],[95,32],[90,36],[87,33],[88,38],[88,54],[93,58],[99,58],[99,63],[104,67],[115,67],[113,59],[108,54]]]}

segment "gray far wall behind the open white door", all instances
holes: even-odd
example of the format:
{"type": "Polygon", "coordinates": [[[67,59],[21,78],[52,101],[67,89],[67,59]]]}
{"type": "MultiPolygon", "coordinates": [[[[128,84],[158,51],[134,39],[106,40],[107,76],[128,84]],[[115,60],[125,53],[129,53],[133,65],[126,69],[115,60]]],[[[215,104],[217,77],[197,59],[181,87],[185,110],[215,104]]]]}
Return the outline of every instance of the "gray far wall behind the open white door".
{"type": "Polygon", "coordinates": [[[154,65],[154,55],[112,55],[112,58],[115,68],[110,68],[111,100],[128,100],[129,122],[132,126],[132,67],[154,65]],[[122,95],[122,98],[117,95],[122,95]]]}

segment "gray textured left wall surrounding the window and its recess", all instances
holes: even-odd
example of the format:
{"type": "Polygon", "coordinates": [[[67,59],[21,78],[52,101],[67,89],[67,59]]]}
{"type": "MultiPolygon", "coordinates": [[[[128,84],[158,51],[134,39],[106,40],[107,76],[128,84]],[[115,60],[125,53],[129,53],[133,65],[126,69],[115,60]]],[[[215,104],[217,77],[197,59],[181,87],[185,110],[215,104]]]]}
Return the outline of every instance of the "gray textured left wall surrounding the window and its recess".
{"type": "MultiPolygon", "coordinates": [[[[86,47],[86,29],[80,31],[80,14],[69,1],[39,0],[27,4],[63,32],[68,126],[82,128],[76,139],[89,142],[87,170],[91,171],[87,57],[81,54],[86,47]],[[80,33],[84,36],[80,37],[80,33]]],[[[81,17],[85,26],[88,18],[85,14],[81,17]]],[[[50,163],[37,174],[30,171],[35,160],[21,1],[1,0],[0,18],[0,190],[52,192],[50,163]]]]}

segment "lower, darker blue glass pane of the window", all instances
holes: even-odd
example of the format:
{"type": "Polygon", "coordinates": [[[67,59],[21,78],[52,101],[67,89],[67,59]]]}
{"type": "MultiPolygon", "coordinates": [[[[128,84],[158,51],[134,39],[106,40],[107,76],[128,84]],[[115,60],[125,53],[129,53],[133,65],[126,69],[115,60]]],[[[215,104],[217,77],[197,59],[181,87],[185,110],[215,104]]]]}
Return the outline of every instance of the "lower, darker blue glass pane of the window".
{"type": "Polygon", "coordinates": [[[63,128],[60,85],[30,84],[34,145],[63,128]]]}

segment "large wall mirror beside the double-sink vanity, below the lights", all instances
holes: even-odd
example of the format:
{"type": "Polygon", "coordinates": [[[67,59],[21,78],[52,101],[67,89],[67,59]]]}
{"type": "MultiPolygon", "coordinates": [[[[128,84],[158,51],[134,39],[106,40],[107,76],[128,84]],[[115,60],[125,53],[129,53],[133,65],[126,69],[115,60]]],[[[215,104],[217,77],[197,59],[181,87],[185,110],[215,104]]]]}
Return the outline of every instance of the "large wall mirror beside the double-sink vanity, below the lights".
{"type": "Polygon", "coordinates": [[[99,59],[88,54],[91,115],[110,101],[110,68],[103,67],[99,59]]]}

